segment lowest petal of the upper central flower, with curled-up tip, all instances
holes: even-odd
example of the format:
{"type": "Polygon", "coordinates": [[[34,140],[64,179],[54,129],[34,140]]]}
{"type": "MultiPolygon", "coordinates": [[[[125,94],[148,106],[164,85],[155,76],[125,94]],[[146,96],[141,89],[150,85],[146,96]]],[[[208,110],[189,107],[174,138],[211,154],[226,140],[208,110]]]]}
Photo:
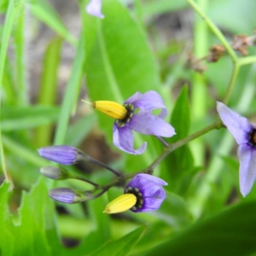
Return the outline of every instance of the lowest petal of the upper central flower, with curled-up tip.
{"type": "Polygon", "coordinates": [[[129,154],[143,154],[143,152],[147,148],[147,143],[143,143],[140,148],[134,149],[133,141],[134,138],[131,129],[125,126],[119,127],[119,125],[115,123],[113,124],[113,144],[117,148],[129,154]]]}

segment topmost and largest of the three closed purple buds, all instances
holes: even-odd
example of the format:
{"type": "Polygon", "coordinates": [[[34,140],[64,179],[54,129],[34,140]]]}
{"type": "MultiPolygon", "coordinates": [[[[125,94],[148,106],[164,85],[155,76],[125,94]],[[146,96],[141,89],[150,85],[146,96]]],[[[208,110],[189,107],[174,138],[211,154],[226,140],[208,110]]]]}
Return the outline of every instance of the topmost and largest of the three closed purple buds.
{"type": "Polygon", "coordinates": [[[82,152],[70,146],[51,146],[38,149],[38,154],[45,159],[52,160],[61,165],[73,165],[84,159],[82,152]]]}

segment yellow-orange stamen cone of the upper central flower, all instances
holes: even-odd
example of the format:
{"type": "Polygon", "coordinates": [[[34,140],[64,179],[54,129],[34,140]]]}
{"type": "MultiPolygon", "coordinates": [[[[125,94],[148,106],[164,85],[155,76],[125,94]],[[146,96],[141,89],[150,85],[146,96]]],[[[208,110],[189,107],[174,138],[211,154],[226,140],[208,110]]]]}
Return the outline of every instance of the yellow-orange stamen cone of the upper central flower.
{"type": "Polygon", "coordinates": [[[124,119],[127,114],[126,108],[117,102],[96,101],[93,107],[114,119],[124,119]]]}

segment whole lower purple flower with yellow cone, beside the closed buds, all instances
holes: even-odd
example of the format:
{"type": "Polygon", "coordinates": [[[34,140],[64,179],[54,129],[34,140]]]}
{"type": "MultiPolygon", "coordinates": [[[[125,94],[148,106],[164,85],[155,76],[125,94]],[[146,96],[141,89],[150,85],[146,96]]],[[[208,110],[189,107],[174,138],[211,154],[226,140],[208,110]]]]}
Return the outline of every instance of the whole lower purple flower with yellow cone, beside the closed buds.
{"type": "Polygon", "coordinates": [[[162,186],[167,183],[159,177],[149,174],[137,174],[126,185],[124,195],[111,201],[105,208],[106,213],[118,213],[131,210],[132,212],[149,212],[157,210],[166,198],[162,186]]]}

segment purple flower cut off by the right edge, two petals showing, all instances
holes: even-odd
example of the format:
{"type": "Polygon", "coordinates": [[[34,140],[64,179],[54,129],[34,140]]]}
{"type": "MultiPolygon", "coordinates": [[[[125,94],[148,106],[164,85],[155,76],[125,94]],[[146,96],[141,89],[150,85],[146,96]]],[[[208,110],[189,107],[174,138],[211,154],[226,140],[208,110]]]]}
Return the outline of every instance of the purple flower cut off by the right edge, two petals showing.
{"type": "Polygon", "coordinates": [[[238,144],[240,190],[241,194],[246,196],[256,179],[256,125],[252,125],[248,119],[221,102],[217,102],[217,110],[220,119],[238,144]]]}

